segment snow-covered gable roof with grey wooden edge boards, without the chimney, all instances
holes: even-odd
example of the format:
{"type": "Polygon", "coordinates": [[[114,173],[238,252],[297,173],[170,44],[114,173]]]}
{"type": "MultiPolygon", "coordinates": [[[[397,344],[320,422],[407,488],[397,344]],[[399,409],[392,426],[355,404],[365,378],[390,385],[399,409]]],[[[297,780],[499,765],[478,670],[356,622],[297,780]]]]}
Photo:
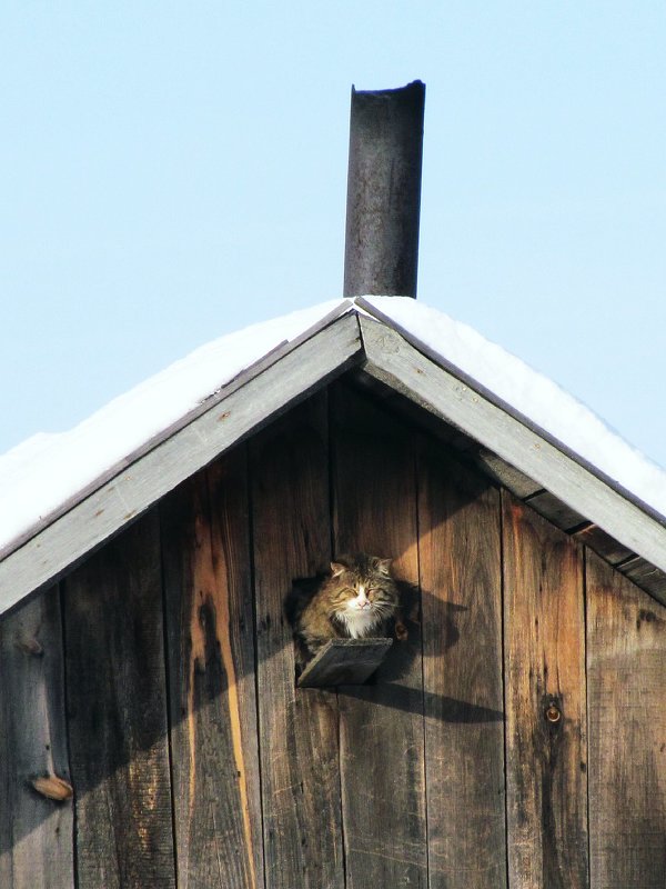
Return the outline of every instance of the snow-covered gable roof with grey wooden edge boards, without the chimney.
{"type": "Polygon", "coordinates": [[[0,458],[0,612],[353,366],[464,433],[457,446],[486,471],[666,601],[666,472],[470,327],[369,297],[215,340],[0,458]]]}

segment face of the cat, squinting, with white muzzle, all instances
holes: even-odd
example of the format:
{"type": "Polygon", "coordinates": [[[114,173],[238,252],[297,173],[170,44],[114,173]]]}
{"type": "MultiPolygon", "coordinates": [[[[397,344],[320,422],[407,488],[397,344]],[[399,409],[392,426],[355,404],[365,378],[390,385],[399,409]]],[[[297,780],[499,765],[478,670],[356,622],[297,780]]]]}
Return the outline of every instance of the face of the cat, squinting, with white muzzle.
{"type": "Polygon", "coordinates": [[[391,559],[354,556],[331,562],[332,603],[345,622],[377,625],[391,618],[398,593],[391,577],[391,559]]]}

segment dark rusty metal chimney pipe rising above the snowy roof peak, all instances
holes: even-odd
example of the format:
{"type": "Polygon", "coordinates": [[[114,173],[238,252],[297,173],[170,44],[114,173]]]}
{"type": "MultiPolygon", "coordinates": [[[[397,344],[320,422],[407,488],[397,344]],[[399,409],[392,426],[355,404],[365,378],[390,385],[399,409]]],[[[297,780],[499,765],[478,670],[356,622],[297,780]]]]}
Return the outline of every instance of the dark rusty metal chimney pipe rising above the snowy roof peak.
{"type": "Polygon", "coordinates": [[[416,298],[425,84],[352,87],[344,296],[416,298]]]}

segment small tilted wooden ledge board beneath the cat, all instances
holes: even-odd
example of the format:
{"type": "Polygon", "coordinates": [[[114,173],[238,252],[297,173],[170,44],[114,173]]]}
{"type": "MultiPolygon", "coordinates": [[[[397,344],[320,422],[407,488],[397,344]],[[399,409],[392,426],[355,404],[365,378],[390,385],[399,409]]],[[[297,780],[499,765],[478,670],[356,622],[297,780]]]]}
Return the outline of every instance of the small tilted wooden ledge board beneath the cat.
{"type": "Polygon", "coordinates": [[[359,686],[386,657],[393,639],[332,639],[299,677],[300,688],[359,686]]]}

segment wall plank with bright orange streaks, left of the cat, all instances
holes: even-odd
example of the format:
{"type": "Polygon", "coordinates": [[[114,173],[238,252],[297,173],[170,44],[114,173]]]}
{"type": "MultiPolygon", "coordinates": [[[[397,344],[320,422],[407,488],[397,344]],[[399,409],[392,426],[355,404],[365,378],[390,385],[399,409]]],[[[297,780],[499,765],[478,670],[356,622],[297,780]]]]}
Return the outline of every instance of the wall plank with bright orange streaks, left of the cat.
{"type": "Polygon", "coordinates": [[[180,886],[263,887],[245,449],[161,503],[180,886]]]}

